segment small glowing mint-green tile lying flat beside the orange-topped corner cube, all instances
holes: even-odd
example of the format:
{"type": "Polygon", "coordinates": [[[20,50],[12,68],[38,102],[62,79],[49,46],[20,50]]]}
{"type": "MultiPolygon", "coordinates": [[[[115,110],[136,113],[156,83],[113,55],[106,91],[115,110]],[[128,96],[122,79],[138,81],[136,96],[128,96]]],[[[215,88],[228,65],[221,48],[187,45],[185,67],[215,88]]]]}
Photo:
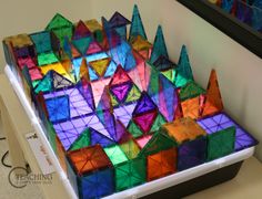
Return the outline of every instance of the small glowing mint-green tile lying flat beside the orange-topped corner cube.
{"type": "Polygon", "coordinates": [[[127,156],[118,145],[107,147],[104,148],[104,151],[113,165],[118,165],[128,160],[127,156]]]}

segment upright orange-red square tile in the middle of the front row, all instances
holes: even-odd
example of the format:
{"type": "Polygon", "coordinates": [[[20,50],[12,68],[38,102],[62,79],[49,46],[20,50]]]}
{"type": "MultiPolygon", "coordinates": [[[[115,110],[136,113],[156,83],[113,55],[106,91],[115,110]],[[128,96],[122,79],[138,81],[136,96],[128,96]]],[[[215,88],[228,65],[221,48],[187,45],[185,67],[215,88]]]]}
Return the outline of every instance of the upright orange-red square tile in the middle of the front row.
{"type": "Polygon", "coordinates": [[[148,156],[148,181],[173,174],[177,170],[177,149],[170,148],[148,156]]]}

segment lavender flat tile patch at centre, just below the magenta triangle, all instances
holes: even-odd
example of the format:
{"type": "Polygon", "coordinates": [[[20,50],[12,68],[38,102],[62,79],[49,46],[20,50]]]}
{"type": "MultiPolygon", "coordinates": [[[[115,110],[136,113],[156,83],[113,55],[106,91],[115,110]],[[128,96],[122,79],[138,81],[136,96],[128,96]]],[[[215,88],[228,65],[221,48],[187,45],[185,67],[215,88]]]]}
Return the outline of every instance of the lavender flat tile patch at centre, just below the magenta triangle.
{"type": "Polygon", "coordinates": [[[113,114],[117,119],[121,121],[122,124],[127,127],[130,119],[132,118],[132,113],[137,103],[119,106],[114,108],[113,114]]]}

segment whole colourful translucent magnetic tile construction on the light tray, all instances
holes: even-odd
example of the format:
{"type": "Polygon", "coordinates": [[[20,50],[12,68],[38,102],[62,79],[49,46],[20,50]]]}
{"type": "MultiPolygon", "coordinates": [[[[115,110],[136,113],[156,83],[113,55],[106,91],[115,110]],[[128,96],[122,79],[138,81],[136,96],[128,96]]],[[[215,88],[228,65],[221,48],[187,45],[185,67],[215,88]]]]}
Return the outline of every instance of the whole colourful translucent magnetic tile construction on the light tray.
{"type": "Polygon", "coordinates": [[[184,45],[174,63],[160,25],[148,41],[137,6],[131,21],[115,12],[101,24],[56,14],[44,31],[9,36],[3,48],[80,198],[256,145],[223,112],[215,71],[202,88],[184,45]]]}

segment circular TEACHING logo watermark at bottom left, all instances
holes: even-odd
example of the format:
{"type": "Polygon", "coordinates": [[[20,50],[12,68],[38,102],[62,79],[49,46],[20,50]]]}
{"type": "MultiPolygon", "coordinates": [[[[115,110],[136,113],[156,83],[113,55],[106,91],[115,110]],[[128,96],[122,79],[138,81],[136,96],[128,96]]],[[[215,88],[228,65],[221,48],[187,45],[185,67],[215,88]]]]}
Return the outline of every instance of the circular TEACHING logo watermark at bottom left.
{"type": "Polygon", "coordinates": [[[52,175],[32,174],[23,167],[14,167],[10,170],[8,180],[12,187],[21,189],[27,185],[51,185],[52,175]]]}

